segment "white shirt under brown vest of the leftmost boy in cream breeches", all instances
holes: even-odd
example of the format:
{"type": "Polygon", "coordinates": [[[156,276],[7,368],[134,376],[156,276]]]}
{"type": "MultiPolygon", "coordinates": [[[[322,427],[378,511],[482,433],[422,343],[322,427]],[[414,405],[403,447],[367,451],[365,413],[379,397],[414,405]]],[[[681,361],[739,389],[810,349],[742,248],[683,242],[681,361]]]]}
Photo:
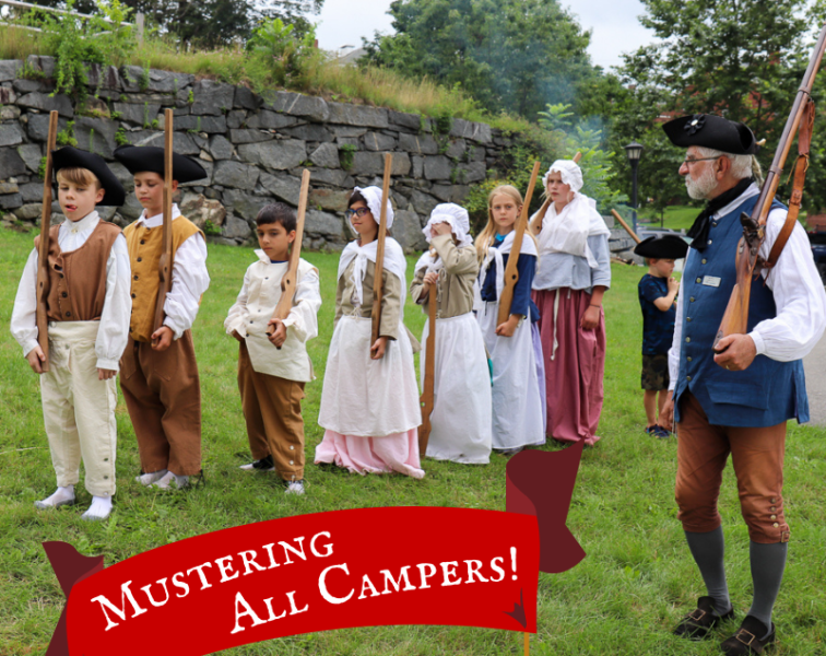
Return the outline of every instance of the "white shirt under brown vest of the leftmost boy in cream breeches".
{"type": "MultiPolygon", "coordinates": [[[[80,221],[66,219],[60,224],[58,245],[63,253],[76,250],[86,243],[101,221],[96,211],[86,214],[80,221]]],[[[11,332],[23,348],[26,356],[37,342],[37,263],[39,254],[32,249],[23,269],[12,309],[11,332]]],[[[129,318],[132,313],[131,267],[126,238],[118,235],[106,260],[106,295],[101,326],[95,340],[97,368],[118,371],[118,362],[123,354],[129,339],[129,318]]]]}

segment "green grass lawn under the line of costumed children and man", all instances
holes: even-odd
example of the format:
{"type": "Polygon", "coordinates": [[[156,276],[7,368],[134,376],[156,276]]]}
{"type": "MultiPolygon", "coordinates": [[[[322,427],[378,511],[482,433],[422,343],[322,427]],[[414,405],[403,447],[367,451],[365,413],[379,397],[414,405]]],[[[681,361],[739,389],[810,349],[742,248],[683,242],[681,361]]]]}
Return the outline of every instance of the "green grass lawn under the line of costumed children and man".
{"type": "MultiPolygon", "coordinates": [[[[36,376],[9,333],[12,302],[32,235],[0,232],[0,655],[43,654],[64,597],[40,542],[64,540],[110,565],[155,547],[231,526],[341,508],[438,505],[505,509],[505,465],[486,467],[424,461],[427,476],[359,477],[309,465],[307,494],[287,497],[271,477],[238,470],[248,446],[237,394],[237,342],[223,320],[240,286],[251,249],[210,246],[212,285],[194,326],[203,394],[203,466],[208,485],[192,492],[149,491],[133,477],[140,465],[122,399],[118,406],[118,493],[104,524],[80,519],[90,503],[82,481],[79,505],[54,513],[34,501],[55,487],[43,432],[36,376]]],[[[338,256],[307,254],[321,272],[324,304],[320,336],[310,343],[318,379],[307,385],[304,417],[308,462],[321,429],[316,423],[332,316],[338,256]]],[[[413,258],[409,273],[412,272],[413,258]]],[[[602,440],[586,449],[568,526],[588,557],[574,570],[540,576],[539,635],[531,654],[554,656],[707,655],[718,642],[671,635],[678,618],[705,595],[688,553],[674,503],[676,442],[642,433],[639,389],[641,268],[615,266],[605,295],[607,362],[602,440]]],[[[424,315],[409,305],[405,321],[421,335],[424,315]]],[[[779,655],[826,654],[826,431],[790,423],[786,508],[792,530],[789,564],[775,621],[779,655]]],[[[548,449],[554,447],[546,447],[548,449]]],[[[81,475],[82,476],[82,475],[81,475]]],[[[740,516],[733,473],[727,469],[721,512],[732,600],[740,618],[751,602],[748,536],[740,516]]],[[[480,527],[484,539],[484,527],[480,527]]],[[[731,633],[735,623],[724,626],[731,633]]],[[[720,634],[722,635],[722,633],[720,634]]],[[[146,652],[167,654],[158,636],[146,652]]],[[[248,655],[497,655],[522,654],[522,635],[450,626],[386,626],[330,631],[257,643],[226,652],[248,655]]]]}

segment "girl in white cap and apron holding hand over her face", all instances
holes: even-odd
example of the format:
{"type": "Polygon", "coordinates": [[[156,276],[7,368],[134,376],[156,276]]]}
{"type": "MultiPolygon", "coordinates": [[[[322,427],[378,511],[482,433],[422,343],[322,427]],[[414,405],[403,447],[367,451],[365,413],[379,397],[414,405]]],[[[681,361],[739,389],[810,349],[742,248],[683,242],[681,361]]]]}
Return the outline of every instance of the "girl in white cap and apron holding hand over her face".
{"type": "MultiPolygon", "coordinates": [[[[468,211],[450,202],[438,204],[422,232],[430,249],[416,262],[410,295],[424,305],[425,314],[434,286],[438,302],[434,406],[426,455],[486,465],[491,456],[491,378],[482,331],[472,312],[479,260],[469,234],[468,211]]],[[[427,321],[422,344],[427,343],[429,331],[427,321]]],[[[430,353],[423,349],[423,386],[428,358],[430,353]]]]}

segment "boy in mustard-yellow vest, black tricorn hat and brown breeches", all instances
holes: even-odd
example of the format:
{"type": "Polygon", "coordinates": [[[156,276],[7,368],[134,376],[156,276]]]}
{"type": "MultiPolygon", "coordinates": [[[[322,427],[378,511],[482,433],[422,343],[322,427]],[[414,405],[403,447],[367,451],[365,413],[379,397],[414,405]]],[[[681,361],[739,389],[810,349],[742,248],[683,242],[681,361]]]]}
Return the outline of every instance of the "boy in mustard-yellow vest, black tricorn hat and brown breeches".
{"type": "MultiPolygon", "coordinates": [[[[122,145],[115,157],[134,176],[143,213],[123,234],[132,266],[132,318],[121,360],[120,388],[132,419],[141,473],[161,489],[186,488],[201,472],[201,388],[190,328],[210,284],[203,233],[173,204],[172,291],[163,326],[153,326],[163,236],[164,150],[122,145]]],[[[173,190],[206,177],[194,160],[173,155],[173,190]]]]}

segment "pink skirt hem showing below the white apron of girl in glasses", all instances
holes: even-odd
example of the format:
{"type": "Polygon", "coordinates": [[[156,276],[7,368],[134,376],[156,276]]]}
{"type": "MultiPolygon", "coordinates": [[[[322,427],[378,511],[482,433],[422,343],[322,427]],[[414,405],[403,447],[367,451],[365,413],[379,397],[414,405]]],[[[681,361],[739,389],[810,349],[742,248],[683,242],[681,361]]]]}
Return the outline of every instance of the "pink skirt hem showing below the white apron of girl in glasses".
{"type": "Polygon", "coordinates": [[[392,433],[384,437],[358,437],[326,430],[316,447],[316,464],[335,462],[362,476],[398,471],[424,478],[418,460],[418,430],[392,433]]]}

